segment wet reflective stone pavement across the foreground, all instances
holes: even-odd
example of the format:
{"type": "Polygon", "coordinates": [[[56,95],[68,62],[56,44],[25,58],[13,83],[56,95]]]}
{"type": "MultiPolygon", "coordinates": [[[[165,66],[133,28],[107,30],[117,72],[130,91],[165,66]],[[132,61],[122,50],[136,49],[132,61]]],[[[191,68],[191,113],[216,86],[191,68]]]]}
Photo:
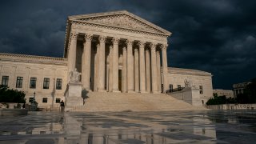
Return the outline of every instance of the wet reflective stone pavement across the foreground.
{"type": "Polygon", "coordinates": [[[0,144],[256,143],[256,110],[65,113],[0,117],[0,144]]]}

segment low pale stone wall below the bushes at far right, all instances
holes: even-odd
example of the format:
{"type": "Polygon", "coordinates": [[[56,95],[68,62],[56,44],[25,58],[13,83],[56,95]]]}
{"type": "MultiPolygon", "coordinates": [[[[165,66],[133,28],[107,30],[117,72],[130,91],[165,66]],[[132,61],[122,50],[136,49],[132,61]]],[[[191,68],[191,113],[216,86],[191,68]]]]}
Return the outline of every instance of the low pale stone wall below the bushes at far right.
{"type": "Polygon", "coordinates": [[[210,105],[207,109],[213,110],[256,110],[256,103],[254,104],[224,104],[224,105],[210,105]]]}

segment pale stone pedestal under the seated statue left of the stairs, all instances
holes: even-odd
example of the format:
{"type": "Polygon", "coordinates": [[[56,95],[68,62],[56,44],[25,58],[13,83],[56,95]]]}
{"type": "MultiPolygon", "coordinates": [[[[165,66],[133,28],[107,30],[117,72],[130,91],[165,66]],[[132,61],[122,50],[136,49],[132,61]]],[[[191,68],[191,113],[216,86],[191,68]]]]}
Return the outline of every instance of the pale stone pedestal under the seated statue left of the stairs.
{"type": "Polygon", "coordinates": [[[70,82],[66,91],[66,106],[82,106],[82,83],[70,82]]]}

